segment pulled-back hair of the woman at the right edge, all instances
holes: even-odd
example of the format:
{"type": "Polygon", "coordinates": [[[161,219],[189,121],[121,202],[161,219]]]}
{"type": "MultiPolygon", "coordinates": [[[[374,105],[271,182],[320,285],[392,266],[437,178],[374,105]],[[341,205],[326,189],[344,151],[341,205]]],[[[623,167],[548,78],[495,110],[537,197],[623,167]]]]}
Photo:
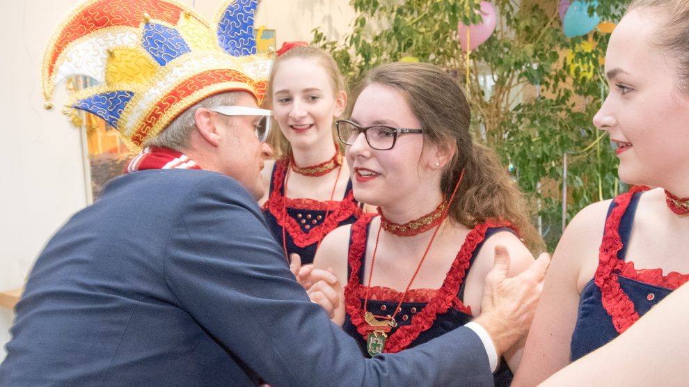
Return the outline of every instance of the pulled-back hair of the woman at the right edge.
{"type": "Polygon", "coordinates": [[[673,56],[679,68],[677,89],[689,94],[689,1],[687,0],[634,0],[627,14],[637,8],[655,10],[660,17],[652,42],[673,56]]]}

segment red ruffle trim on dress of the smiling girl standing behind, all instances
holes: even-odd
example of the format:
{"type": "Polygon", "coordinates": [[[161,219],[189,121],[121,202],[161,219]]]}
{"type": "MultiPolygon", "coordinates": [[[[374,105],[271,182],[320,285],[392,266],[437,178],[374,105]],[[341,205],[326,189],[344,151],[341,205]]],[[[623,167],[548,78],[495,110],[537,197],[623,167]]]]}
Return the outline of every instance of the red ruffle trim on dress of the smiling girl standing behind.
{"type": "Polygon", "coordinates": [[[273,191],[271,191],[263,208],[264,210],[269,210],[271,214],[275,216],[280,227],[285,228],[285,231],[290,234],[296,246],[306,247],[318,243],[328,232],[340,226],[340,222],[344,221],[344,219],[352,215],[361,216],[363,214],[356,200],[354,200],[354,194],[351,191],[349,191],[349,194],[344,196],[341,201],[326,200],[321,202],[319,200],[306,198],[285,198],[281,189],[283,188],[286,172],[287,159],[276,161],[275,172],[273,173],[273,191]],[[323,223],[311,228],[310,232],[303,232],[299,223],[292,218],[292,216],[285,214],[285,208],[328,211],[328,216],[324,219],[323,223]]]}

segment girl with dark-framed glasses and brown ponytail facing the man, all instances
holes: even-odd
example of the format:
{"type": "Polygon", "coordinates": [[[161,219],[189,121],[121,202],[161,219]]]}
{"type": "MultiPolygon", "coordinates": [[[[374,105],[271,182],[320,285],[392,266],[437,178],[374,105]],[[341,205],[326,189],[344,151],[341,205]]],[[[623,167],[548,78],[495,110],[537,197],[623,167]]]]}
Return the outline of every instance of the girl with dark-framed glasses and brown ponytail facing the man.
{"type": "MultiPolygon", "coordinates": [[[[481,313],[496,246],[507,248],[513,276],[542,241],[506,168],[471,139],[469,106],[452,77],[433,65],[390,63],[358,90],[338,136],[354,197],[377,214],[328,234],[314,269],[339,279],[319,283],[324,294],[338,293],[322,305],[373,356],[470,322],[481,313]]],[[[520,353],[519,345],[506,352],[496,384],[509,385],[520,353]]]]}

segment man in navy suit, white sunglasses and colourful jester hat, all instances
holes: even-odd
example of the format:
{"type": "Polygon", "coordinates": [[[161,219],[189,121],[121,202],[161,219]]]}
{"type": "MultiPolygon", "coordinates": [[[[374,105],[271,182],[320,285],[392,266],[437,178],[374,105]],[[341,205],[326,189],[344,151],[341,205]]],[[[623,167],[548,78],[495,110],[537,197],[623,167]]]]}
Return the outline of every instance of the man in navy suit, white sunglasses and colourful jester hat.
{"type": "MultiPolygon", "coordinates": [[[[68,33],[58,38],[106,26],[103,7],[121,12],[129,3],[88,3],[98,8],[85,8],[74,19],[79,28],[65,23],[68,33]]],[[[473,326],[363,358],[297,283],[256,204],[272,152],[262,142],[269,112],[258,109],[260,79],[242,72],[245,62],[215,61],[215,53],[184,62],[193,45],[166,46],[158,56],[154,43],[185,36],[170,26],[195,17],[175,7],[166,3],[164,12],[150,14],[132,8],[126,16],[143,18],[132,23],[145,29],[136,36],[145,40],[153,31],[145,49],[161,59],[158,68],[176,70],[132,92],[115,88],[127,84],[97,88],[95,97],[72,105],[100,113],[128,143],[145,148],[38,257],[17,304],[0,385],[251,386],[262,379],[275,386],[491,386],[497,358],[528,331],[547,260],[506,279],[509,257],[498,254],[473,326]],[[153,25],[155,17],[173,19],[153,25]],[[193,73],[181,77],[184,71],[193,73]],[[160,102],[152,99],[161,92],[160,102]],[[129,101],[138,105],[123,109],[129,101]],[[146,101],[149,115],[134,120],[146,101]],[[141,128],[127,127],[132,122],[141,128]]],[[[120,52],[115,43],[102,50],[106,61],[141,54],[120,52]]],[[[123,69],[135,64],[128,63],[123,69]]],[[[111,75],[105,81],[118,79],[111,75]]]]}

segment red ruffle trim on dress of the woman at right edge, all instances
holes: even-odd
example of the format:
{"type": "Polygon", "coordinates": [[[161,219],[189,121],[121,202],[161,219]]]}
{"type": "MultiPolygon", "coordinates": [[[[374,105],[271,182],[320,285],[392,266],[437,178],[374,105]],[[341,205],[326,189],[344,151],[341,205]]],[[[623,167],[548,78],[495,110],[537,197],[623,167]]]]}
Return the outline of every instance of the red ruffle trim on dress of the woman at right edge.
{"type": "Polygon", "coordinates": [[[594,283],[601,290],[603,307],[612,317],[612,324],[618,333],[623,333],[639,319],[633,301],[619,285],[618,276],[670,289],[676,289],[689,281],[689,275],[673,271],[667,276],[663,276],[662,269],[637,270],[633,262],[624,262],[624,260],[617,258],[617,253],[622,248],[618,231],[622,216],[626,212],[633,195],[647,189],[649,187],[635,186],[626,194],[617,196],[615,198],[617,206],[612,209],[608,219],[605,219],[605,233],[603,234],[603,242],[601,242],[599,264],[594,275],[594,283]]]}

